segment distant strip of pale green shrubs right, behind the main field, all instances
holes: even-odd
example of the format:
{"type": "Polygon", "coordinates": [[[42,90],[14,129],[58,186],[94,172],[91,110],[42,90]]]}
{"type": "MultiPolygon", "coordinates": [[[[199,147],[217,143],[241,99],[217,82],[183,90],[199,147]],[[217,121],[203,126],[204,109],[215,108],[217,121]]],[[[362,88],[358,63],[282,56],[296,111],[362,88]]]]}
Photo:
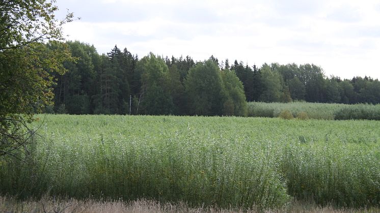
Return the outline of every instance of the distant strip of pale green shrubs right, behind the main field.
{"type": "Polygon", "coordinates": [[[252,117],[282,117],[300,119],[349,120],[368,119],[380,120],[380,104],[325,104],[325,103],[248,103],[248,116],[252,117]],[[284,112],[290,115],[285,117],[284,112]]]}

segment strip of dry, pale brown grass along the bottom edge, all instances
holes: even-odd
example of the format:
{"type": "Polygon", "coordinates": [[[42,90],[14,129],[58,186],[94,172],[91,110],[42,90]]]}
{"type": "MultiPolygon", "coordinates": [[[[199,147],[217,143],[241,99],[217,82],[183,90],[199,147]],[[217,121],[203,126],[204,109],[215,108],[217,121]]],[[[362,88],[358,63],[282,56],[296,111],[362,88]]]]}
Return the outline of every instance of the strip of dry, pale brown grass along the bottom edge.
{"type": "MultiPolygon", "coordinates": [[[[160,203],[140,199],[137,201],[96,201],[92,199],[80,201],[75,199],[55,199],[44,197],[39,201],[17,201],[9,197],[0,197],[0,212],[257,212],[251,209],[218,209],[192,208],[186,203],[160,203]]],[[[333,206],[320,207],[315,204],[292,202],[287,207],[265,212],[380,212],[379,208],[370,209],[336,209],[333,206]]]]}

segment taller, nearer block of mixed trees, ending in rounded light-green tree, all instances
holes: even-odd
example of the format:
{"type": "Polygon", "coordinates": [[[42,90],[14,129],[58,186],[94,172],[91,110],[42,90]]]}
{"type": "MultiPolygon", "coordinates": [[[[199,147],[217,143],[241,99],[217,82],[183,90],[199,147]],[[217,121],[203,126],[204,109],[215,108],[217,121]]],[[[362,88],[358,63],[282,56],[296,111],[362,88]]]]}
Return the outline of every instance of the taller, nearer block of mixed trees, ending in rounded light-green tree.
{"type": "Polygon", "coordinates": [[[139,59],[115,46],[99,55],[93,46],[67,42],[76,60],[65,74],[53,73],[54,107],[70,114],[247,114],[243,85],[235,72],[204,62],[149,53],[139,59]]]}

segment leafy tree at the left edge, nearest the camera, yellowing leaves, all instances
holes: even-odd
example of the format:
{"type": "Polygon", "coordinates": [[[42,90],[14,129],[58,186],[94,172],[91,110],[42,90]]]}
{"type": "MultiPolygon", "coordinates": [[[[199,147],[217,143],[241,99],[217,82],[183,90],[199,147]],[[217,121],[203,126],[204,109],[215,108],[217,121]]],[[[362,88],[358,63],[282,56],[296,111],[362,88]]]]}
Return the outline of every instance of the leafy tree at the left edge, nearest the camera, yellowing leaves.
{"type": "Polygon", "coordinates": [[[45,105],[52,105],[51,73],[63,74],[62,63],[71,59],[61,43],[61,26],[71,21],[72,14],[57,20],[57,10],[44,0],[2,1],[0,5],[1,156],[24,150],[34,133],[25,122],[32,121],[45,105]]]}

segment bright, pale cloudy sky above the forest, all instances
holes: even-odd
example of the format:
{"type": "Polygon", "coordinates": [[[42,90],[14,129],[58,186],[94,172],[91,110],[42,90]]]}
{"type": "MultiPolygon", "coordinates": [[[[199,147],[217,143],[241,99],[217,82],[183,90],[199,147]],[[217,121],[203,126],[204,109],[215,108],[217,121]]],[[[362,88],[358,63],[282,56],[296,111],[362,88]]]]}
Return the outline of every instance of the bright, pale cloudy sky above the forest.
{"type": "Polygon", "coordinates": [[[57,0],[67,40],[110,52],[115,45],[140,58],[189,55],[315,64],[326,76],[380,79],[378,0],[57,0]]]}

